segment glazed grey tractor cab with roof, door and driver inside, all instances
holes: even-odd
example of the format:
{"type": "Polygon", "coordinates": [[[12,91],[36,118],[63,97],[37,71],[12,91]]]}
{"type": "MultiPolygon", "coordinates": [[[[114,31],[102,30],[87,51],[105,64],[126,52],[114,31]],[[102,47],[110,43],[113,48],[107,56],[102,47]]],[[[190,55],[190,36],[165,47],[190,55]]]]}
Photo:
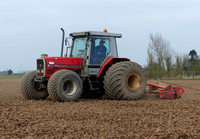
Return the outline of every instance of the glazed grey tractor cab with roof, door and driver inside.
{"type": "Polygon", "coordinates": [[[70,36],[73,39],[69,57],[83,59],[83,76],[97,75],[108,57],[118,57],[116,38],[121,38],[121,34],[87,31],[70,36]]]}

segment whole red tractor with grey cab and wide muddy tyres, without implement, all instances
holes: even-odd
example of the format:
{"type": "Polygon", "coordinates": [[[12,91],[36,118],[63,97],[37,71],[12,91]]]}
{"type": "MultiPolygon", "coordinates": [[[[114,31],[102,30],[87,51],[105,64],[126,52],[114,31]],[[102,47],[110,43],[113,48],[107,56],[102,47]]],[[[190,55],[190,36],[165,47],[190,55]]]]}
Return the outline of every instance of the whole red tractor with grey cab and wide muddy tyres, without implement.
{"type": "MultiPolygon", "coordinates": [[[[146,89],[142,67],[128,58],[118,57],[116,38],[121,34],[87,31],[71,33],[70,54],[63,56],[63,31],[60,57],[37,59],[37,70],[27,72],[21,80],[26,99],[76,101],[100,98],[106,94],[115,100],[140,99],[146,89]]],[[[127,48],[126,48],[127,49],[127,48]]]]}

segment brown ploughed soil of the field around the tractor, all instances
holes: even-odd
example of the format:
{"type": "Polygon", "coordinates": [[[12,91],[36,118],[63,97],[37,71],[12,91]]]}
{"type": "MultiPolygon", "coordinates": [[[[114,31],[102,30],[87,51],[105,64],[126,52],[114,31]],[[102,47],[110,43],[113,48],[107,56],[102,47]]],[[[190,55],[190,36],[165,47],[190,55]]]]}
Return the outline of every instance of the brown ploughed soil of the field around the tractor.
{"type": "MultiPolygon", "coordinates": [[[[153,81],[154,82],[154,81],[153,81]]],[[[200,81],[164,81],[185,89],[181,99],[26,100],[20,77],[0,76],[1,138],[200,138],[200,81]]]]}

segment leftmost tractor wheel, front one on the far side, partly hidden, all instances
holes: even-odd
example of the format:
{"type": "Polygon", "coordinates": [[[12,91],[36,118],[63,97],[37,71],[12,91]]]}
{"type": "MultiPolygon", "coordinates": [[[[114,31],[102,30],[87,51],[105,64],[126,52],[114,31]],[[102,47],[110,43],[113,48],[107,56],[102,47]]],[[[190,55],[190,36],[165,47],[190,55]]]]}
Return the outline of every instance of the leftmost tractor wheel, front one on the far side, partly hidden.
{"type": "Polygon", "coordinates": [[[34,82],[36,71],[27,72],[21,79],[20,89],[26,99],[45,99],[48,97],[46,89],[38,90],[38,82],[34,82]]]}

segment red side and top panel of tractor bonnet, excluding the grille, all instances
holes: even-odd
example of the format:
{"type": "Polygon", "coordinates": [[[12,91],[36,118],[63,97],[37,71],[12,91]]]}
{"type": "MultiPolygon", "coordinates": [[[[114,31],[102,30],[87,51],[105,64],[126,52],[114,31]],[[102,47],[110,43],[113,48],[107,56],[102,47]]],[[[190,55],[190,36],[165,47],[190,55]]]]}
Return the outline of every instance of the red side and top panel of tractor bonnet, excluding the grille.
{"type": "Polygon", "coordinates": [[[46,77],[62,69],[81,69],[82,58],[79,57],[47,57],[46,61],[46,77]]]}

